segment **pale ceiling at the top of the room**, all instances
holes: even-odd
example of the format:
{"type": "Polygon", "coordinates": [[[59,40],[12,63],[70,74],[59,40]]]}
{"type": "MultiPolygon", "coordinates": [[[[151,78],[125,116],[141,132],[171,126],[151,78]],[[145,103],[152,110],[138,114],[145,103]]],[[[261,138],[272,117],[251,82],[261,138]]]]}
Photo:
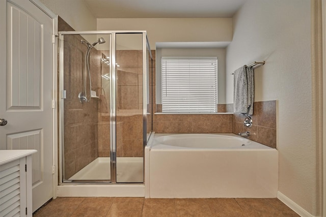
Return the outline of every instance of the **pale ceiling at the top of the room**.
{"type": "Polygon", "coordinates": [[[230,18],[247,0],[81,1],[96,18],[230,18]]]}

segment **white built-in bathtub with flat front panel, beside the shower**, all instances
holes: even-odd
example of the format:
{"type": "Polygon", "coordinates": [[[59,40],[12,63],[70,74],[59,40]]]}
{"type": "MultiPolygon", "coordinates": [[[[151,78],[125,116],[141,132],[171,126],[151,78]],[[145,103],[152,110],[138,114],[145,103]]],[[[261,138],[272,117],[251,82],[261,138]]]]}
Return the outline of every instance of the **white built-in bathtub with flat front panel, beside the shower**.
{"type": "Polygon", "coordinates": [[[152,136],[145,150],[146,197],[277,196],[276,149],[235,134],[152,136]]]}

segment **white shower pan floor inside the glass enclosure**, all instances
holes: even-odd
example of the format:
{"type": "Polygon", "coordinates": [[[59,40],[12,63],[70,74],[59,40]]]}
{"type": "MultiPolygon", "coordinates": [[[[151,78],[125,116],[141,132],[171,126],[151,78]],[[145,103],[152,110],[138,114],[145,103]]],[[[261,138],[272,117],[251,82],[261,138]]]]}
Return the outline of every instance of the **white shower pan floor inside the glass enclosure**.
{"type": "MultiPolygon", "coordinates": [[[[110,180],[110,158],[97,158],[68,180],[110,180]]],[[[144,182],[143,158],[117,158],[117,182],[144,182]]]]}

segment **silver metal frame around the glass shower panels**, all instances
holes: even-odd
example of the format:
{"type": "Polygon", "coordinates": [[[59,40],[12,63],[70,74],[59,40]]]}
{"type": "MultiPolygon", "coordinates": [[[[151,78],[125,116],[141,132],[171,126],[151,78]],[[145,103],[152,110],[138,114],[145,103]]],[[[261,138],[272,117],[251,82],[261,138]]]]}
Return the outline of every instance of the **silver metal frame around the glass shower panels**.
{"type": "MultiPolygon", "coordinates": [[[[59,108],[59,176],[60,176],[60,184],[69,184],[69,183],[117,183],[117,154],[116,154],[116,35],[117,34],[142,34],[142,52],[143,52],[143,149],[145,149],[147,143],[147,133],[146,133],[146,125],[147,125],[147,59],[146,52],[147,48],[150,51],[150,46],[147,38],[147,33],[145,30],[117,30],[117,31],[62,31],[58,32],[59,36],[59,99],[61,106],[59,108]],[[63,87],[64,83],[64,36],[65,35],[110,35],[110,59],[111,59],[111,67],[110,67],[110,167],[111,167],[111,179],[110,182],[102,181],[102,180],[64,180],[64,99],[66,92],[63,87]]],[[[150,56],[152,58],[151,52],[150,56]]],[[[145,158],[143,156],[143,162],[145,165],[145,158]]],[[[145,180],[145,167],[143,167],[143,177],[145,180]]],[[[144,182],[144,181],[143,181],[144,182]]],[[[118,182],[121,183],[121,182],[118,182]]],[[[130,182],[132,183],[132,182],[130,182]]]]}

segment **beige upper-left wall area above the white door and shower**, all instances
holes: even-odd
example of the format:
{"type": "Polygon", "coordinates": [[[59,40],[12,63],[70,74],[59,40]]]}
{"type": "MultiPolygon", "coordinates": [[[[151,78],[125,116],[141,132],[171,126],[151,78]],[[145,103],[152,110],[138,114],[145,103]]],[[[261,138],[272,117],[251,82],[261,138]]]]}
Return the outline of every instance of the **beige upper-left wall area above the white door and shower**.
{"type": "Polygon", "coordinates": [[[96,17],[79,0],[40,0],[50,11],[62,17],[76,31],[96,30],[96,17]]]}

